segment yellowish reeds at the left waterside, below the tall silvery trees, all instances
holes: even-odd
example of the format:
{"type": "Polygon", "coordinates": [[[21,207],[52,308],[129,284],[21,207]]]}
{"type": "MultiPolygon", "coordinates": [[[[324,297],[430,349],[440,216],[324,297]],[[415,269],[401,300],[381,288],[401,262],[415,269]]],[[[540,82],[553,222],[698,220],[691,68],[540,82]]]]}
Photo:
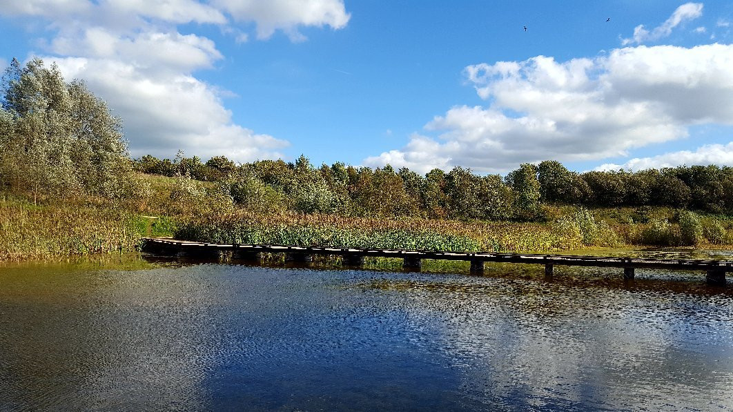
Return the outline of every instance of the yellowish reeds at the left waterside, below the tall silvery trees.
{"type": "Polygon", "coordinates": [[[0,200],[0,260],[134,251],[141,234],[125,212],[93,205],[0,200]]]}

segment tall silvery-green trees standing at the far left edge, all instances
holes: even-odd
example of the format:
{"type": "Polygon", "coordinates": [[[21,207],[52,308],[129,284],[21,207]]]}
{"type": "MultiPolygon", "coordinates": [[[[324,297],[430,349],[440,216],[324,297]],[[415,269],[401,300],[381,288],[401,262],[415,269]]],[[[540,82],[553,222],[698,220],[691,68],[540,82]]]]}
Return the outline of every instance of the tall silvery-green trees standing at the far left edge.
{"type": "Polygon", "coordinates": [[[84,82],[13,59],[0,84],[0,185],[43,196],[134,191],[122,122],[84,82]]]}

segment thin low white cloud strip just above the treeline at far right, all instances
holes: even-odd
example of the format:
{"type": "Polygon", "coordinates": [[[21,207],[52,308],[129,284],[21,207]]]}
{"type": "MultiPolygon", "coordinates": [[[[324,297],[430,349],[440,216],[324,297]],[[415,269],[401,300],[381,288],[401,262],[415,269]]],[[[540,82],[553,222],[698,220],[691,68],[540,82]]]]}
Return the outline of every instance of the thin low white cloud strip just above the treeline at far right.
{"type": "Polygon", "coordinates": [[[633,158],[624,164],[605,163],[598,166],[596,170],[625,169],[638,172],[645,169],[660,169],[662,167],[675,167],[684,164],[688,166],[707,166],[710,164],[733,166],[733,141],[729,144],[706,144],[694,152],[682,150],[649,158],[633,158]]]}

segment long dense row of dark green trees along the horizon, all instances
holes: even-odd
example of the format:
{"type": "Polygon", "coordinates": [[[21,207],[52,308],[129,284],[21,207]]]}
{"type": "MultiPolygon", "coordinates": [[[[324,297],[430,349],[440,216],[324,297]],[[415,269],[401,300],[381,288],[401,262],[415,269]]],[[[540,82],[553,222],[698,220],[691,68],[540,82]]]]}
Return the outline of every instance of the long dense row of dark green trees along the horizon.
{"type": "Polygon", "coordinates": [[[216,182],[238,204],[262,211],[527,221],[542,219],[542,204],[558,203],[733,210],[733,168],[719,166],[576,173],[543,161],[523,164],[506,177],[481,176],[460,166],[423,176],[389,165],[314,167],[304,156],[293,163],[237,165],[223,156],[203,163],[182,153],[173,161],[144,156],[136,165],[141,172],[216,182]]]}

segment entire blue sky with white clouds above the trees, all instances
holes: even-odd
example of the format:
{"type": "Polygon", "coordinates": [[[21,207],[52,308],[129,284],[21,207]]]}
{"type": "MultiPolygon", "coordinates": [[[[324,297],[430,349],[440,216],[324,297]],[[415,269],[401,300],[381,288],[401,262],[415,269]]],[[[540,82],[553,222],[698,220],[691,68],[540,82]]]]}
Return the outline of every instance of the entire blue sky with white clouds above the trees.
{"type": "Polygon", "coordinates": [[[0,65],[83,78],[133,157],[733,166],[731,24],[729,1],[0,0],[0,65]]]}

